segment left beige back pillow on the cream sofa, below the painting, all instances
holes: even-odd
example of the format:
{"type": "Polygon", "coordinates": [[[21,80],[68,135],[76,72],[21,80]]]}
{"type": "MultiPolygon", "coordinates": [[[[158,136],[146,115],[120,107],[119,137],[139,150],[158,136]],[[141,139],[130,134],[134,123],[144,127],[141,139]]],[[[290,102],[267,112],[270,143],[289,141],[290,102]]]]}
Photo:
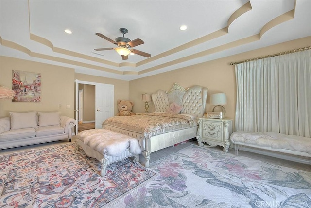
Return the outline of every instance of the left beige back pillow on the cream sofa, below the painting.
{"type": "Polygon", "coordinates": [[[23,128],[36,128],[37,123],[37,112],[10,112],[11,115],[11,129],[23,129],[23,128]]]}

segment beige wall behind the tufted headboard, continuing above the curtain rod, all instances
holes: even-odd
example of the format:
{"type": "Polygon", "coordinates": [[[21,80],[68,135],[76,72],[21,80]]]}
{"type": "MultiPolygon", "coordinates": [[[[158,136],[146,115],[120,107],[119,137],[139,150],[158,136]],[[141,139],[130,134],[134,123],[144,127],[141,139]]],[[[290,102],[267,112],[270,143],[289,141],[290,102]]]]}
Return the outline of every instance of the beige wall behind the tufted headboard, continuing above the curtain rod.
{"type": "MultiPolygon", "coordinates": [[[[141,94],[153,93],[157,89],[170,90],[176,82],[184,88],[192,85],[207,87],[206,112],[211,111],[214,107],[210,105],[211,94],[226,93],[225,117],[234,119],[236,104],[235,66],[231,66],[230,63],[308,47],[310,42],[311,36],[130,81],[129,99],[134,102],[132,111],[135,113],[144,112],[144,102],[141,101],[141,94]]],[[[154,105],[150,102],[149,112],[152,111],[154,111],[154,105]]]]}

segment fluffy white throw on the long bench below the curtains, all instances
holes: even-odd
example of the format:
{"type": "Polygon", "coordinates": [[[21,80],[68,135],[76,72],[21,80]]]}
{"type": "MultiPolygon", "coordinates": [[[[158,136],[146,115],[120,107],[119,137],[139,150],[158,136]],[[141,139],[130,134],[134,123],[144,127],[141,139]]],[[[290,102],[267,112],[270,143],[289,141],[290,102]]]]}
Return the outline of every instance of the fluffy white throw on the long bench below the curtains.
{"type": "Polygon", "coordinates": [[[230,136],[232,143],[251,144],[272,149],[285,149],[306,152],[311,155],[311,138],[285,135],[276,132],[233,132],[230,136]]]}

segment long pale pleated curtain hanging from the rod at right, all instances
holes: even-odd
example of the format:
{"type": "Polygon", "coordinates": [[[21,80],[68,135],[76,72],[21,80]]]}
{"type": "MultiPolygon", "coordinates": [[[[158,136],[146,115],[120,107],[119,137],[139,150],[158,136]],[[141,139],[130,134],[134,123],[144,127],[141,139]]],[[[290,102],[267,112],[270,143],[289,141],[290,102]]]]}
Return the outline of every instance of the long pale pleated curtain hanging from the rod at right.
{"type": "Polygon", "coordinates": [[[236,131],[311,137],[311,50],[237,64],[236,131]]]}

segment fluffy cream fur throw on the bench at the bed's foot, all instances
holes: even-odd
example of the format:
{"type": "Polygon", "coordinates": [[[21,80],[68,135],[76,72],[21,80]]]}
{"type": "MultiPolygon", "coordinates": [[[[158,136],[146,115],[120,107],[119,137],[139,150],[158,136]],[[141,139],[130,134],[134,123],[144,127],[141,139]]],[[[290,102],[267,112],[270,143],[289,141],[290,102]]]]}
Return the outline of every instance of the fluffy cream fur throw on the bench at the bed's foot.
{"type": "Polygon", "coordinates": [[[127,148],[134,155],[141,154],[141,147],[137,139],[110,130],[84,130],[78,133],[77,137],[84,144],[99,152],[103,152],[103,154],[107,152],[111,156],[119,156],[127,148]]]}

